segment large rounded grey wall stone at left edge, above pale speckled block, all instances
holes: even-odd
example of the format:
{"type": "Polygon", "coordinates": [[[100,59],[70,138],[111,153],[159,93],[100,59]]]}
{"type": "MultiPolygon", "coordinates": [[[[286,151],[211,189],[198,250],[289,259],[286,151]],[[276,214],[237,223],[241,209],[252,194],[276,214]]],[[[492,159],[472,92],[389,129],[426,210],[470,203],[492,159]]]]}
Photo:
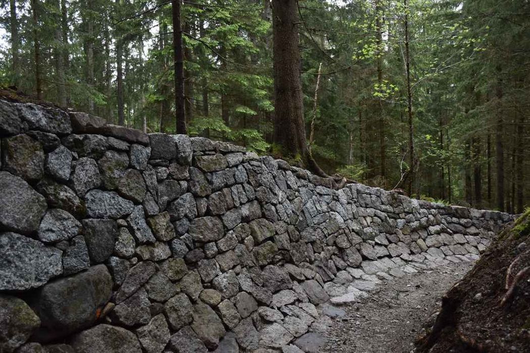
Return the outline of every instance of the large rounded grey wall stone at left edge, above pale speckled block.
{"type": "Polygon", "coordinates": [[[46,200],[22,178],[0,171],[0,227],[21,233],[37,231],[46,200]]]}

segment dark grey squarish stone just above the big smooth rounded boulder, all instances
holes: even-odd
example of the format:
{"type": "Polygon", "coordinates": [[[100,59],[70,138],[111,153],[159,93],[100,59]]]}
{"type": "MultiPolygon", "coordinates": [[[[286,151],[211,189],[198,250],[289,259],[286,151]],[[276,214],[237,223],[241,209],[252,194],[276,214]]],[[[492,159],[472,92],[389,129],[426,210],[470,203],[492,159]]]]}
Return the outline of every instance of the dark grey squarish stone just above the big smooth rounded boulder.
{"type": "Polygon", "coordinates": [[[114,251],[118,228],[114,220],[83,220],[83,233],[93,263],[106,261],[114,251]]]}

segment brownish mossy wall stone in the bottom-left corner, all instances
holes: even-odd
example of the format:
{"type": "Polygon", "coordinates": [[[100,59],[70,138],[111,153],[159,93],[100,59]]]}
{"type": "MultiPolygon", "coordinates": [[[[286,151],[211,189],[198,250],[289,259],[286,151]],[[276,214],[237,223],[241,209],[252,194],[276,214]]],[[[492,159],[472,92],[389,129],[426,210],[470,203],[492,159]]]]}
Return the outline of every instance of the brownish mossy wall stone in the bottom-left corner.
{"type": "Polygon", "coordinates": [[[0,351],[11,353],[40,326],[39,317],[17,297],[0,295],[0,351]]]}

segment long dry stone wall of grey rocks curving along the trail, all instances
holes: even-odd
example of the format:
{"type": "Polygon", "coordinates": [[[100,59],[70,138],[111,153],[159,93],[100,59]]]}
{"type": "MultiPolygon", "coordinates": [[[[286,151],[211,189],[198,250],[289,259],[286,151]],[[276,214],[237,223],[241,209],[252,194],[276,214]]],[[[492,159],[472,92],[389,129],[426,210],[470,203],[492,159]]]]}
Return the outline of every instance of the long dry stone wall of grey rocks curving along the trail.
{"type": "Polygon", "coordinates": [[[0,137],[1,352],[314,349],[322,304],[513,219],[28,103],[0,101],[0,137]]]}

